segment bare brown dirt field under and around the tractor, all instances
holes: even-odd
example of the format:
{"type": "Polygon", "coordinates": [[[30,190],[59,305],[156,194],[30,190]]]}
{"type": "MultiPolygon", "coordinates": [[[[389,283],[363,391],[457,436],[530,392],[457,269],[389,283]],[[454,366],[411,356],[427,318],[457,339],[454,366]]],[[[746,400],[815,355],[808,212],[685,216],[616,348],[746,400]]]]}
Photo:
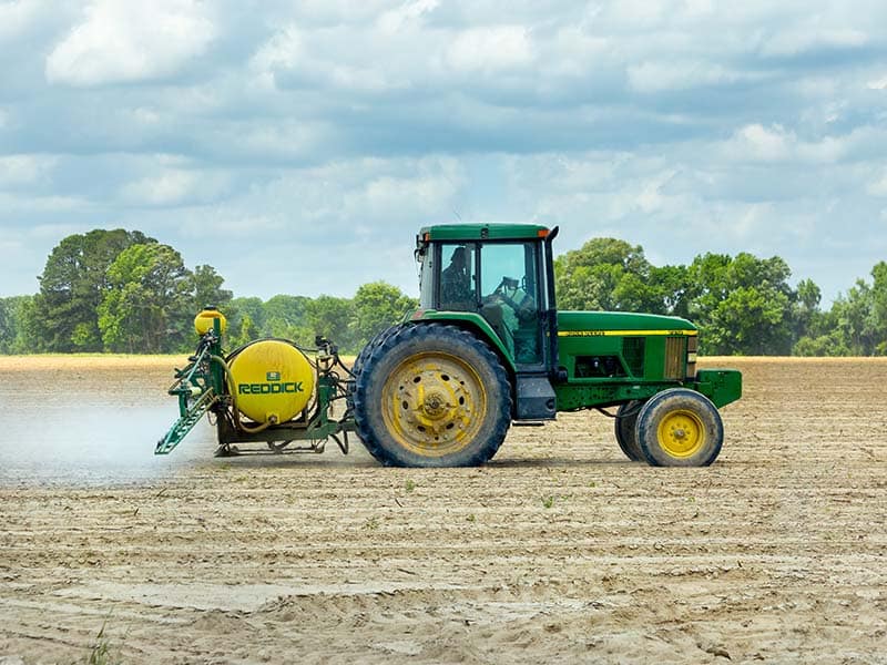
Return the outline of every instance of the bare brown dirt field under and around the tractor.
{"type": "Polygon", "coordinates": [[[170,360],[99,362],[0,358],[2,665],[887,663],[887,361],[705,362],[708,469],[575,413],[440,471],[153,458],[170,360]]]}

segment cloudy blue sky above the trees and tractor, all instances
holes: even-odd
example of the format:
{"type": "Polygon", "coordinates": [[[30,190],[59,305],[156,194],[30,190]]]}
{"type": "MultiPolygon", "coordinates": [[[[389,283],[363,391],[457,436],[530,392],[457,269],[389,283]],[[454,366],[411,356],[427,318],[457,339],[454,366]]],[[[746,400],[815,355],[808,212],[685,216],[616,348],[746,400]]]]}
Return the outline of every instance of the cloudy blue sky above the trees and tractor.
{"type": "Polygon", "coordinates": [[[416,295],[419,227],[887,259],[883,0],[0,0],[0,296],[142,231],[235,296],[416,295]]]}

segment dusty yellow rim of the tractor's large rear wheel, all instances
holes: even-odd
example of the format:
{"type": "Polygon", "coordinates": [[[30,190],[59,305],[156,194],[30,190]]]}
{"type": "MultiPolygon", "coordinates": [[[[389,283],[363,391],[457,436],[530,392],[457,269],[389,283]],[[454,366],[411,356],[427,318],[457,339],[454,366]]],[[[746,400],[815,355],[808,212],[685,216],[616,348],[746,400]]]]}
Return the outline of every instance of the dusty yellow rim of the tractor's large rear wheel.
{"type": "Polygon", "coordinates": [[[383,419],[398,443],[426,457],[459,452],[477,436],[487,391],[477,371],[442,352],[410,356],[383,386],[383,419]]]}

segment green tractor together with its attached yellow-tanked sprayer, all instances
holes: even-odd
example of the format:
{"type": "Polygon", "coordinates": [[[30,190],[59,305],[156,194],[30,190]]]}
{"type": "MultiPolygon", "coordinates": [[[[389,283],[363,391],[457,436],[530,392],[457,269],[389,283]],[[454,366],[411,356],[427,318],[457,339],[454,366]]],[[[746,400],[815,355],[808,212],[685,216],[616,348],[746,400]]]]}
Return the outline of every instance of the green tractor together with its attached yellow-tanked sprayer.
{"type": "Polygon", "coordinates": [[[631,460],[711,464],[724,440],[717,409],[740,398],[741,374],[696,369],[699,331],[682,318],[558,311],[557,235],[514,224],[422,228],[419,308],[350,368],[323,337],[314,349],[259,339],[225,352],[224,317],[204,310],[197,351],[170,388],[180,419],[155,452],[208,411],[223,454],[254,442],[320,452],[330,438],[347,452],[350,432],[384,464],[465,467],[490,460],[512,423],[598,409],[631,460]]]}

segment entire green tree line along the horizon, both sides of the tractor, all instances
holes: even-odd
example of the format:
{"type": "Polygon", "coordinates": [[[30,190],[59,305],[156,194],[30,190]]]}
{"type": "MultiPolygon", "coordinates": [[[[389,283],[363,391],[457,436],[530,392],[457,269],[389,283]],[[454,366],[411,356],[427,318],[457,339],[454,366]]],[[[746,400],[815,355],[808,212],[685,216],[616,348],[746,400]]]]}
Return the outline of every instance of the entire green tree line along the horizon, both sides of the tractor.
{"type": "MultiPolygon", "coordinates": [[[[700,326],[704,355],[887,355],[887,263],[857,279],[832,307],[810,279],[793,287],[778,256],[702,254],[654,266],[641,246],[593,238],[555,259],[560,309],[646,311],[700,326]]],[[[228,344],[281,337],[310,347],[325,335],[356,352],[417,301],[374,282],[353,298],[235,298],[210,265],[188,269],[169,245],[134,231],[65,237],[47,259],[33,296],[0,298],[0,352],[183,352],[194,315],[216,305],[228,344]]]]}

